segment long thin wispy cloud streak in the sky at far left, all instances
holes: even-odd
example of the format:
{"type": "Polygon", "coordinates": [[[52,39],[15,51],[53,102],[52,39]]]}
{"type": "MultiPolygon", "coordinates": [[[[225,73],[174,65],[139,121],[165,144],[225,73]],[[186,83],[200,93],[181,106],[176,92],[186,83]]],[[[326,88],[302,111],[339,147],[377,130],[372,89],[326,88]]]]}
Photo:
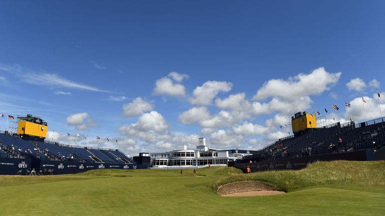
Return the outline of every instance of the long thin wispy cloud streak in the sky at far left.
{"type": "Polygon", "coordinates": [[[20,78],[22,81],[35,84],[35,85],[46,85],[51,87],[67,87],[67,88],[77,88],[81,90],[90,90],[90,91],[100,91],[100,92],[109,92],[107,90],[101,90],[97,87],[93,87],[90,85],[77,83],[72,80],[63,78],[57,74],[54,73],[47,73],[47,72],[36,72],[32,71],[26,68],[23,68],[22,66],[15,64],[15,65],[8,65],[8,64],[1,64],[0,63],[0,70],[8,71],[10,73],[15,74],[18,78],[20,78]]]}

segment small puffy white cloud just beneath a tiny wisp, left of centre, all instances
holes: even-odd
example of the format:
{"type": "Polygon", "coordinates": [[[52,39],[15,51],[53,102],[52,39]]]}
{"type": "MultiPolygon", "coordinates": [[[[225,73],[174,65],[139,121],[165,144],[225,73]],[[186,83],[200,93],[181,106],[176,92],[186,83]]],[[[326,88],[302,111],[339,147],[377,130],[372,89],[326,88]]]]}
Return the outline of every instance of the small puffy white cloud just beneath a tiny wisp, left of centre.
{"type": "Polygon", "coordinates": [[[155,82],[154,95],[184,96],[184,86],[174,83],[170,78],[163,77],[155,82]]]}

